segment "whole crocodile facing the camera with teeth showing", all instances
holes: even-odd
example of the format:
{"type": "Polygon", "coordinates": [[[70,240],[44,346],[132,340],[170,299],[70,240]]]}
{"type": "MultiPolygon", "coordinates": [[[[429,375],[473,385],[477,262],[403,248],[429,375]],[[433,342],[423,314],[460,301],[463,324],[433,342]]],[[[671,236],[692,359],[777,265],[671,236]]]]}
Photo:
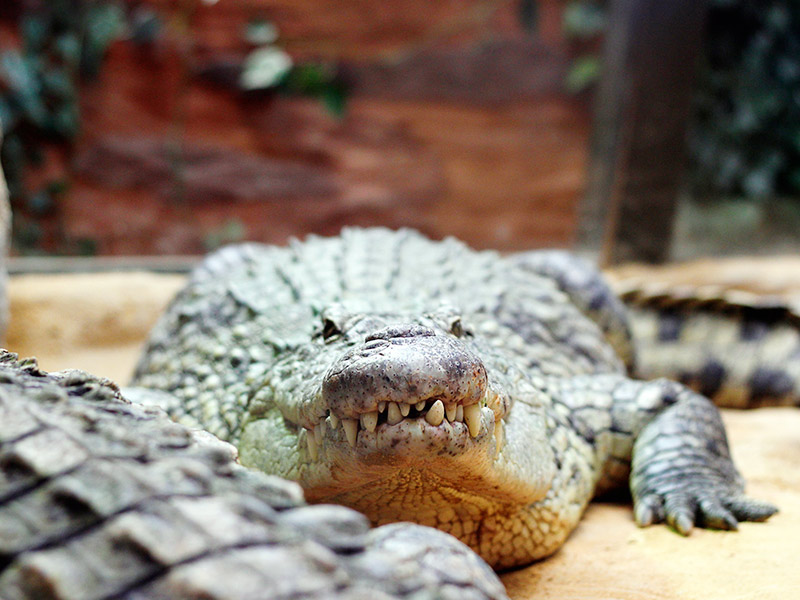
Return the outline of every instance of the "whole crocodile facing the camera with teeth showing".
{"type": "Polygon", "coordinates": [[[210,255],[127,393],[311,503],[436,527],[496,569],[555,552],[617,487],[684,535],[772,515],[709,399],[633,363],[624,306],[564,252],[345,229],[210,255]]]}

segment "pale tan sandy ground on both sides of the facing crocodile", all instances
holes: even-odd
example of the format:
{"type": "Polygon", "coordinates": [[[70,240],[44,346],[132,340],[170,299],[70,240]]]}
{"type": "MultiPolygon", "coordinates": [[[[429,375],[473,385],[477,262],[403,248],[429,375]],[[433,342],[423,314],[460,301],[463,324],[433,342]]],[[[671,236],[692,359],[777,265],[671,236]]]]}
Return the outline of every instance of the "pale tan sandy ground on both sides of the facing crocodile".
{"type": "MultiPolygon", "coordinates": [[[[25,275],[10,283],[10,350],[45,369],[125,383],[145,333],[184,278],[147,273],[25,275]]],[[[726,411],[749,493],[777,504],[736,533],[638,529],[627,504],[593,504],[552,558],[503,575],[516,599],[800,597],[800,410],[726,411]]]]}

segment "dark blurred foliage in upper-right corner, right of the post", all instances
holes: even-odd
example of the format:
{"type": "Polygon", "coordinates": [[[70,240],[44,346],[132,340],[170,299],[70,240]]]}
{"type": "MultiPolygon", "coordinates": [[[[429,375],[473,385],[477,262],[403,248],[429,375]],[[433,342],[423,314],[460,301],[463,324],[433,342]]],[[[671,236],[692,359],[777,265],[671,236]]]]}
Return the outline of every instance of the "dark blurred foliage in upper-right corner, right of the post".
{"type": "Polygon", "coordinates": [[[800,4],[714,0],[695,97],[701,193],[800,194],[800,4]]]}

